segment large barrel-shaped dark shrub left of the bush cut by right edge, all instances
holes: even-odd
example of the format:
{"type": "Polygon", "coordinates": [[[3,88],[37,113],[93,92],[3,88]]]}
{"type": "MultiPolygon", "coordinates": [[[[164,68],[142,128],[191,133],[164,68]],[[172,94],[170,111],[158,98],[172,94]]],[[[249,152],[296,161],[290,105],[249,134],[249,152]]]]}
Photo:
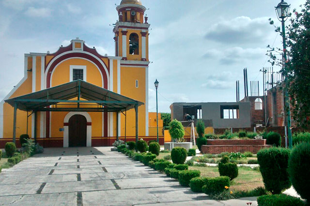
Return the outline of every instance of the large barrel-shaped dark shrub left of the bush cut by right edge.
{"type": "Polygon", "coordinates": [[[287,172],[290,150],[281,147],[261,149],[257,153],[257,160],[267,191],[279,194],[291,187],[287,172]]]}

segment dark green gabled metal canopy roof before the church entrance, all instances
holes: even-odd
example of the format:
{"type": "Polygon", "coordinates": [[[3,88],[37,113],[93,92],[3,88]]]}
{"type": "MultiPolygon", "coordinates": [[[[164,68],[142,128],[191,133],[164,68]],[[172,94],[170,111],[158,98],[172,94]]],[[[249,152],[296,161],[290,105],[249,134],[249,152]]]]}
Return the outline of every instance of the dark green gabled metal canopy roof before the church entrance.
{"type": "Polygon", "coordinates": [[[23,111],[91,112],[124,112],[144,104],[80,79],[5,102],[23,111]]]}

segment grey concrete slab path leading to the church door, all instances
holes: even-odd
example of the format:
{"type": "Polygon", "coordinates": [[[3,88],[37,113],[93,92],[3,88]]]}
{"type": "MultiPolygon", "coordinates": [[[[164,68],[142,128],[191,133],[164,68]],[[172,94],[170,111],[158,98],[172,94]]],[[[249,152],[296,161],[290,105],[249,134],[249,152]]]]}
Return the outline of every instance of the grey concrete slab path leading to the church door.
{"type": "Polygon", "coordinates": [[[0,173],[0,205],[246,206],[256,198],[214,201],[110,147],[46,148],[0,173]]]}

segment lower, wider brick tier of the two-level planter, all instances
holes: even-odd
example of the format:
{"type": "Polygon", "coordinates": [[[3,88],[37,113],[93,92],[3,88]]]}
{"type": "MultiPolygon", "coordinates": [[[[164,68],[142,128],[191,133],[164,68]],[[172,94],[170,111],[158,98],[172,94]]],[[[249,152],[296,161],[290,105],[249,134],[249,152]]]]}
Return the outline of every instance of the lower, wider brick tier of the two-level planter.
{"type": "Polygon", "coordinates": [[[246,152],[256,154],[260,149],[270,145],[202,145],[203,154],[220,154],[222,152],[246,152]]]}

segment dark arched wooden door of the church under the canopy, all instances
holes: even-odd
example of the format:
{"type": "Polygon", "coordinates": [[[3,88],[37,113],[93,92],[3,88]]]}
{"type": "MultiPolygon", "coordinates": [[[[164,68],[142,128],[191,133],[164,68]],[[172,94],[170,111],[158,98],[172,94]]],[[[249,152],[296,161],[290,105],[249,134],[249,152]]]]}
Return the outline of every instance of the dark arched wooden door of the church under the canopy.
{"type": "Polygon", "coordinates": [[[82,115],[69,119],[69,147],[86,147],[87,120],[82,115]]]}

